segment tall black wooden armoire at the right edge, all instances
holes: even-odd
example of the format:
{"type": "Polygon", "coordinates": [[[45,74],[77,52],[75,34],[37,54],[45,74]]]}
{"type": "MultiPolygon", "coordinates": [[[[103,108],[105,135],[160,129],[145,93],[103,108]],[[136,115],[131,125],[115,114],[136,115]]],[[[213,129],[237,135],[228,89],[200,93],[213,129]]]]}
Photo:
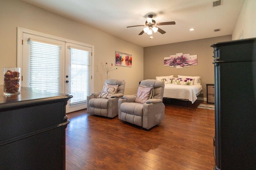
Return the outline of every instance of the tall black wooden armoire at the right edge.
{"type": "Polygon", "coordinates": [[[256,38],[212,44],[215,170],[256,169],[256,38]]]}

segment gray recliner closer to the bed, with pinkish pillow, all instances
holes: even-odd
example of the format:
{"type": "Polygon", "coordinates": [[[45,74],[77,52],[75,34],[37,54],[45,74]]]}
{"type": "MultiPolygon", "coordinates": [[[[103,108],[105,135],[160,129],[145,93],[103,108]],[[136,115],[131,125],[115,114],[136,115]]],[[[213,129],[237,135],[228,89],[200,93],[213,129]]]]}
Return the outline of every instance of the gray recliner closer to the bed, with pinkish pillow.
{"type": "MultiPolygon", "coordinates": [[[[148,90],[150,91],[150,90],[148,90]]],[[[137,95],[125,95],[118,100],[118,119],[145,129],[150,129],[164,119],[164,83],[159,80],[143,80],[140,82],[137,95]],[[138,100],[145,88],[153,86],[152,96],[138,100]]]]}

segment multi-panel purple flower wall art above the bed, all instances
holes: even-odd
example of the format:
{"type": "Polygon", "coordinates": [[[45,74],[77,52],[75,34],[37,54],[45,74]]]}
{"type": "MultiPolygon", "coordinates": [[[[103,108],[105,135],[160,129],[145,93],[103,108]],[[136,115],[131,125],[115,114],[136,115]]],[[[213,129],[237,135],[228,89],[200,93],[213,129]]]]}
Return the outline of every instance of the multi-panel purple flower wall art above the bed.
{"type": "Polygon", "coordinates": [[[176,55],[164,57],[164,66],[183,68],[190,65],[197,65],[197,55],[176,53],[176,55]]]}

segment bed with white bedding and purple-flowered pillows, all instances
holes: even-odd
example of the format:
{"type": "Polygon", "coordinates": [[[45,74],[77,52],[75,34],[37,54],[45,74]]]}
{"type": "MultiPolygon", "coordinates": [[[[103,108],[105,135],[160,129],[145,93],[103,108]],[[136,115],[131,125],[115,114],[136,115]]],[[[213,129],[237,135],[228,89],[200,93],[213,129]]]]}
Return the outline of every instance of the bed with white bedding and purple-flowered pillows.
{"type": "Polygon", "coordinates": [[[197,96],[202,94],[202,85],[199,76],[160,76],[156,80],[164,82],[164,98],[174,98],[190,101],[192,104],[197,100],[197,96]]]}

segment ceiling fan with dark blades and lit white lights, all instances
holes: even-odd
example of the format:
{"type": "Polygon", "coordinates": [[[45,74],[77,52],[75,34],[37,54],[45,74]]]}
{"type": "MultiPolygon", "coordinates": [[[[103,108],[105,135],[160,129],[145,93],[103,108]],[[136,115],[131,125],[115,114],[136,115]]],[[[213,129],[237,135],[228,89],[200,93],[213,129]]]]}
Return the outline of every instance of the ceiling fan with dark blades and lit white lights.
{"type": "MultiPolygon", "coordinates": [[[[129,27],[147,26],[147,27],[144,27],[144,29],[139,33],[139,35],[142,35],[144,32],[147,33],[148,35],[152,35],[152,33],[153,32],[156,33],[156,31],[160,32],[161,34],[166,33],[166,31],[158,28],[157,27],[158,25],[175,25],[175,21],[158,22],[158,23],[156,23],[156,21],[152,20],[152,18],[153,18],[153,15],[150,14],[150,15],[148,15],[148,17],[146,17],[147,20],[146,20],[145,25],[134,25],[134,26],[128,26],[127,28],[129,28],[129,27]]],[[[150,37],[150,38],[152,38],[152,37],[150,37]]]]}

